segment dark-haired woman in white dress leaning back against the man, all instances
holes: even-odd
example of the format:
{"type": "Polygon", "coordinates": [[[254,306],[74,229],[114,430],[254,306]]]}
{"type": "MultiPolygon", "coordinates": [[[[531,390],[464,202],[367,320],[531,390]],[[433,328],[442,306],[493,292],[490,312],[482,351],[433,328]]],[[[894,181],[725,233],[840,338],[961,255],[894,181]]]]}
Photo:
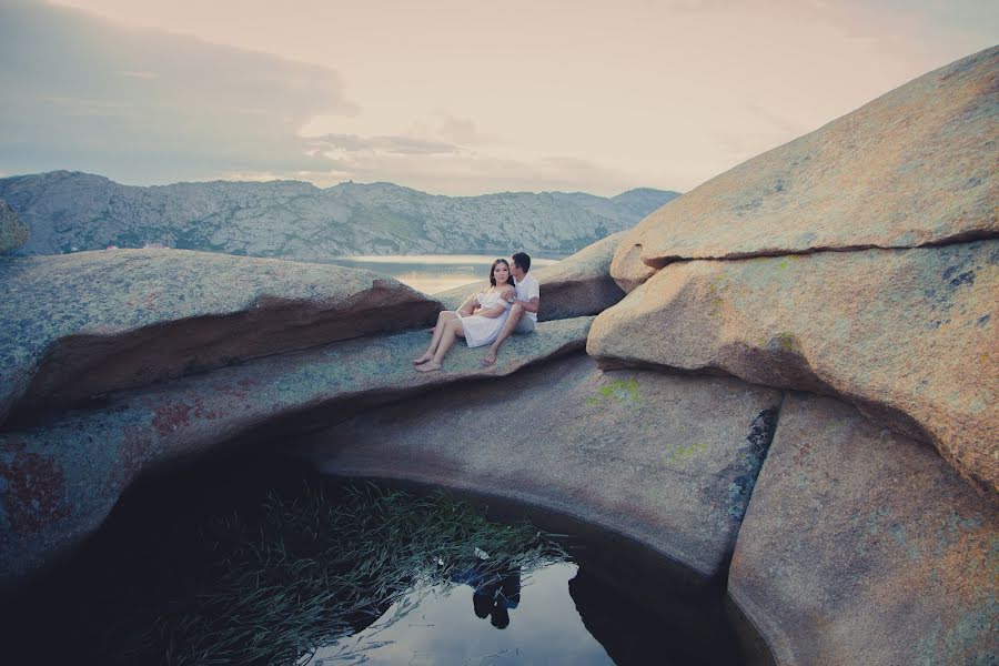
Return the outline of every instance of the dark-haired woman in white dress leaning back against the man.
{"type": "Polygon", "coordinates": [[[500,334],[500,329],[509,314],[507,301],[516,293],[509,264],[505,259],[497,259],[490,269],[490,289],[478,292],[457,312],[445,310],[437,315],[434,336],[426,352],[413,364],[420,372],[441,370],[444,354],[454,344],[455,337],[464,337],[468,346],[490,344],[500,334]]]}

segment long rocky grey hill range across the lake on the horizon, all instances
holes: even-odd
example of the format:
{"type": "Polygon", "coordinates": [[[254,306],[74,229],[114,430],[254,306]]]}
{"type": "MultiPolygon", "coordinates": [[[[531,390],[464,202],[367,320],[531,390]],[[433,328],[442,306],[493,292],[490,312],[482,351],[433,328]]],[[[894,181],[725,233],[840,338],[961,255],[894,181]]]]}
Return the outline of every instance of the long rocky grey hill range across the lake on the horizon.
{"type": "Polygon", "coordinates": [[[442,196],[392,183],[299,181],[148,188],[53,171],[0,179],[31,236],[14,254],[108,245],[322,261],[347,254],[569,253],[634,226],[678,192],[508,192],[442,196]]]}

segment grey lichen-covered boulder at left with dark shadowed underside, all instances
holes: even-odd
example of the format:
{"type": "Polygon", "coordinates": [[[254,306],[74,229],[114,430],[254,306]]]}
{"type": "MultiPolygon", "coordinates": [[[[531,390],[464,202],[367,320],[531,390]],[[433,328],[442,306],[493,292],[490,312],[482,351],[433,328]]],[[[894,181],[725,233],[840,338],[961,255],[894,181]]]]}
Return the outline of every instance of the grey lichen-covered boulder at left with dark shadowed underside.
{"type": "Polygon", "coordinates": [[[3,259],[0,290],[0,421],[440,310],[369,271],[183,250],[3,259]]]}

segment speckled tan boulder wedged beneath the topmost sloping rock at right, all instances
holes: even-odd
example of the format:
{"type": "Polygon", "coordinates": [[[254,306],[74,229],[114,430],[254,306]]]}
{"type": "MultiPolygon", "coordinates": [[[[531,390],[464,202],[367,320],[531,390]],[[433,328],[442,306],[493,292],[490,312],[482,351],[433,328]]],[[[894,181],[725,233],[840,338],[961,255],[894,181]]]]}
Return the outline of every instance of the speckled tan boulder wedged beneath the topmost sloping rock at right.
{"type": "Polygon", "coordinates": [[[999,241],[672,264],[587,351],[845,396],[999,484],[999,241]]]}

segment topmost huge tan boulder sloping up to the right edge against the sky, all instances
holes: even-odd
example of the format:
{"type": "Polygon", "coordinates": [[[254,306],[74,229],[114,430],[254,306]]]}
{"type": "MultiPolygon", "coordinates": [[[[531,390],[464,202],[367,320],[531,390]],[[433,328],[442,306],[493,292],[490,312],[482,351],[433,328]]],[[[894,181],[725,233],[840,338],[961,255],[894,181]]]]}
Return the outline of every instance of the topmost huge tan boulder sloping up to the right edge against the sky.
{"type": "Polygon", "coordinates": [[[999,47],[925,74],[660,208],[610,271],[678,259],[912,248],[999,233],[999,47]]]}

